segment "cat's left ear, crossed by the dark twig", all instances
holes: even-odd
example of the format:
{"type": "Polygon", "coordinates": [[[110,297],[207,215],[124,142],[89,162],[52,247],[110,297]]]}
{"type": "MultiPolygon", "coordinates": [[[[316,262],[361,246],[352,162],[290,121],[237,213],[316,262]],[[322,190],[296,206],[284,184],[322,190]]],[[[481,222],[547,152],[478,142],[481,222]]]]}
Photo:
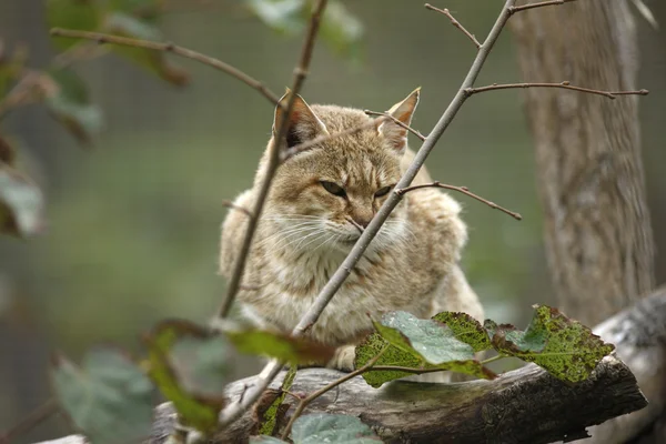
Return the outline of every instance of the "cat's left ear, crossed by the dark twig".
{"type": "MultiPolygon", "coordinates": [[[[283,108],[286,108],[291,94],[291,90],[287,89],[284,95],[282,95],[282,99],[280,99],[280,105],[275,107],[275,117],[273,119],[273,137],[278,135],[278,131],[280,131],[280,124],[282,124],[282,117],[284,115],[283,108]]],[[[326,130],[324,122],[316,117],[307,103],[305,103],[303,98],[296,94],[286,128],[287,148],[292,148],[307,140],[312,140],[317,135],[325,134],[329,134],[329,130],[326,130]]]]}

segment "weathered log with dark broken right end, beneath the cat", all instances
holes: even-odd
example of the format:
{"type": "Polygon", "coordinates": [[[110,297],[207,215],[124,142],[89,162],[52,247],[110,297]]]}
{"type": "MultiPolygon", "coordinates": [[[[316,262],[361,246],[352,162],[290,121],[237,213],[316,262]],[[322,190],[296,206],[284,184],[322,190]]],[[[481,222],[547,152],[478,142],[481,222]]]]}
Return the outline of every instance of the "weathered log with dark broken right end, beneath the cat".
{"type": "MultiPolygon", "coordinates": [[[[299,371],[291,387],[295,393],[314,393],[340,372],[326,369],[299,371]]],[[[249,380],[236,381],[226,394],[236,400],[249,380]]],[[[279,390],[273,383],[271,389],[279,390]]],[[[278,393],[278,392],[276,392],[278,393]]],[[[276,395],[276,394],[275,394],[276,395]]],[[[282,432],[297,403],[278,421],[282,432]]],[[[561,382],[529,364],[493,381],[457,384],[428,384],[395,381],[372,389],[360,376],[325,393],[304,410],[310,413],[339,413],[360,417],[387,443],[551,443],[582,436],[585,427],[643,408],[646,401],[636,380],[619,360],[605,357],[593,376],[578,384],[561,382]],[[526,426],[538,424],[538,427],[526,426]]],[[[151,444],[163,444],[173,431],[175,414],[171,404],[157,408],[151,444]]],[[[258,417],[246,412],[241,420],[221,430],[213,443],[246,442],[258,417]]]]}

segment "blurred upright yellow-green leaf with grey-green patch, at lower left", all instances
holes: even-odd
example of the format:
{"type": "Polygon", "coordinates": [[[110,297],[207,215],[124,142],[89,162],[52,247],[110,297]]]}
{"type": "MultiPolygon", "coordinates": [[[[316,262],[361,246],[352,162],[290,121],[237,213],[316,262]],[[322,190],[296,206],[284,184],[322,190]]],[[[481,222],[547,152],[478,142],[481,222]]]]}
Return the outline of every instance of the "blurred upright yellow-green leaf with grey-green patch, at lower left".
{"type": "Polygon", "coordinates": [[[203,433],[213,432],[231,370],[226,340],[188,321],[164,321],[145,342],[149,375],[181,421],[203,433]]]}

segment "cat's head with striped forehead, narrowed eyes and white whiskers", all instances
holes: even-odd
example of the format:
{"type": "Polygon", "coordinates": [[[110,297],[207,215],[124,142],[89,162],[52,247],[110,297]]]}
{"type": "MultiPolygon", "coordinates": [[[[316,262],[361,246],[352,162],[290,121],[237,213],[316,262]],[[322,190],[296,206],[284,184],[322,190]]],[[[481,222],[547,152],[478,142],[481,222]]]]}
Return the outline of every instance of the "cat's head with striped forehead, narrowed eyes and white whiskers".
{"type": "MultiPolygon", "coordinates": [[[[282,99],[285,105],[290,92],[282,99]]],[[[418,90],[389,113],[410,124],[418,90]]],[[[276,107],[273,137],[283,119],[276,107]]],[[[307,105],[296,95],[287,122],[287,148],[372,122],[363,111],[336,105],[307,105]]],[[[402,175],[407,131],[394,121],[319,143],[286,160],[275,173],[264,219],[283,233],[283,244],[296,249],[349,251],[389,198],[402,175]]],[[[268,155],[268,154],[266,154],[268,155]]],[[[266,155],[258,173],[263,180],[266,155]]],[[[406,208],[398,205],[371,244],[372,250],[405,239],[406,208]]]]}

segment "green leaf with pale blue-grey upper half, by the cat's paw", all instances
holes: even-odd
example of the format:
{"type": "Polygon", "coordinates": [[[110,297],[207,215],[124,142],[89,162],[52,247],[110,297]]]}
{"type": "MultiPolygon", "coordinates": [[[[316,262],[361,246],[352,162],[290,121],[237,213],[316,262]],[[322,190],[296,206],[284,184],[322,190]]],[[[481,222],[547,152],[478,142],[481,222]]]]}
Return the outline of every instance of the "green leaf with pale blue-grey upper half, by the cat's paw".
{"type": "MultiPolygon", "coordinates": [[[[401,366],[428,372],[433,369],[454,371],[483,379],[495,374],[474,359],[474,350],[456,339],[456,333],[433,320],[420,320],[406,312],[387,313],[382,322],[373,322],[372,334],[356,346],[356,369],[365,365],[382,350],[375,365],[401,366]]],[[[373,387],[418,372],[371,371],[363,379],[373,387]]]]}

